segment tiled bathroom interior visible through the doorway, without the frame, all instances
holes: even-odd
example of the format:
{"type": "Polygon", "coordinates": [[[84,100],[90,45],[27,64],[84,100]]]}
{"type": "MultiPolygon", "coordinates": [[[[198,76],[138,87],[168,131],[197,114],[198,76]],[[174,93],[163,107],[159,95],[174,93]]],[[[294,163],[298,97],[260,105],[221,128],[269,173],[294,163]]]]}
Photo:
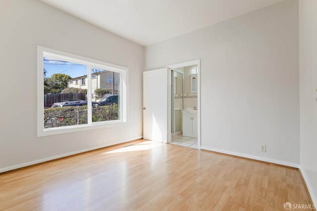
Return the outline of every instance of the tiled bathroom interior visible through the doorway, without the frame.
{"type": "Polygon", "coordinates": [[[198,149],[198,67],[171,70],[172,141],[170,144],[198,149]]]}

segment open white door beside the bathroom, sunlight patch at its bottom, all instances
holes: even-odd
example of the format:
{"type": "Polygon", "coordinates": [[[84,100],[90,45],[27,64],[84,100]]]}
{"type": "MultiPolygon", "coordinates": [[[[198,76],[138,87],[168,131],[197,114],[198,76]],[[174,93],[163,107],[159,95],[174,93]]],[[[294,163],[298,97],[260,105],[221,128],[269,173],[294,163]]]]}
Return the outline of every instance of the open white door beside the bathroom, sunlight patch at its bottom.
{"type": "Polygon", "coordinates": [[[167,68],[143,72],[143,138],[167,143],[167,68]]]}

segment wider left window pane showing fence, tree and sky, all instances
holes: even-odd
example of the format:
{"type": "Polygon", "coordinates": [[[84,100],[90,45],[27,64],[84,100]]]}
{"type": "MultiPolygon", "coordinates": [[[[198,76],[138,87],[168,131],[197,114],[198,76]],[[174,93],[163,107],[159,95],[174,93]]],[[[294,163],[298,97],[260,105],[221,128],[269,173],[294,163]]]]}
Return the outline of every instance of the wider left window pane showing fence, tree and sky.
{"type": "Polygon", "coordinates": [[[44,57],[44,128],[88,123],[86,78],[86,65],[44,57]]]}

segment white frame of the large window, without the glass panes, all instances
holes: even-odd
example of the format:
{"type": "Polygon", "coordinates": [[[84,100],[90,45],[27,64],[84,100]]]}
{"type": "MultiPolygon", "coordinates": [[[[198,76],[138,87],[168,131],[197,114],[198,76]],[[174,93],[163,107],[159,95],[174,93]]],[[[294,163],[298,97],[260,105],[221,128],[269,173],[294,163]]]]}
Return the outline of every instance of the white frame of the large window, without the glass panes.
{"type": "Polygon", "coordinates": [[[41,136],[49,136],[56,135],[62,133],[70,133],[76,131],[83,130],[91,130],[103,127],[113,127],[118,124],[126,124],[127,116],[128,116],[128,68],[122,67],[115,64],[106,63],[103,61],[98,61],[91,58],[86,58],[79,55],[74,55],[71,53],[65,53],[49,48],[45,48],[42,46],[38,46],[37,51],[37,135],[41,136]],[[53,57],[60,60],[65,60],[69,62],[79,63],[83,65],[87,65],[87,81],[86,86],[88,88],[87,99],[88,99],[88,124],[83,125],[71,125],[71,126],[63,126],[63,127],[54,127],[54,128],[44,128],[44,77],[43,77],[43,57],[53,57]],[[91,69],[99,68],[104,70],[109,70],[112,72],[120,73],[120,119],[111,120],[111,121],[101,121],[101,122],[92,122],[92,104],[91,99],[93,98],[92,92],[89,90],[91,87],[91,69]]]}

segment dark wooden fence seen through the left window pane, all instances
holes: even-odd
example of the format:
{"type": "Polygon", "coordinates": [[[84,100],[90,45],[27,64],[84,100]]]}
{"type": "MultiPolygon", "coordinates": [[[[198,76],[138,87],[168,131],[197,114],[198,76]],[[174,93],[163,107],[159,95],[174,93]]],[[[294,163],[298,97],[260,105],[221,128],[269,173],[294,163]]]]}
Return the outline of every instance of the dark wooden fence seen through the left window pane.
{"type": "Polygon", "coordinates": [[[56,93],[44,95],[44,107],[51,107],[53,103],[61,101],[86,100],[86,93],[56,93]]]}

